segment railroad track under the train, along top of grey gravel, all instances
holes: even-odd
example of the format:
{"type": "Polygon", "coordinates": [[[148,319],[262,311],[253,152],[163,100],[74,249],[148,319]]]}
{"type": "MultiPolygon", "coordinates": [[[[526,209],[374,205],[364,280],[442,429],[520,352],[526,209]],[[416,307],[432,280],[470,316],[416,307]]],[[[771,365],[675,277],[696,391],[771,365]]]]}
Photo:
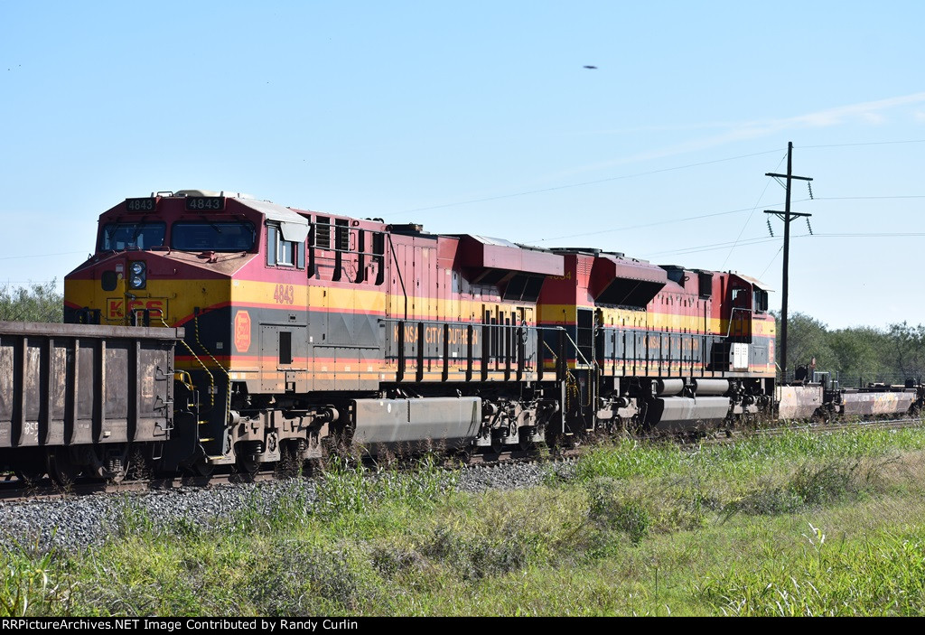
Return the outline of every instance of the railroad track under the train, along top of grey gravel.
{"type": "MultiPolygon", "coordinates": [[[[892,419],[892,420],[875,420],[875,421],[853,421],[853,422],[836,422],[820,423],[808,425],[787,425],[776,426],[773,428],[758,428],[755,430],[733,431],[729,434],[721,432],[708,436],[698,437],[694,443],[697,445],[714,445],[730,444],[737,441],[759,436],[778,436],[793,432],[808,432],[813,434],[831,434],[846,430],[862,429],[902,429],[902,428],[922,428],[925,427],[925,421],[921,419],[892,419]]],[[[677,437],[672,435],[643,436],[639,437],[643,442],[664,442],[673,440],[682,444],[691,443],[691,439],[677,437]]],[[[516,461],[532,462],[545,460],[563,460],[569,458],[578,458],[589,447],[597,446],[592,442],[586,446],[575,448],[562,448],[556,452],[550,452],[545,449],[534,448],[528,450],[509,450],[499,453],[474,454],[464,458],[453,457],[446,458],[443,466],[450,469],[459,469],[467,467],[489,467],[511,463],[516,461]]],[[[375,465],[375,462],[373,462],[375,465]]],[[[413,469],[413,462],[408,463],[408,469],[413,469]]],[[[307,477],[314,476],[314,470],[310,469],[305,472],[307,477]]],[[[209,476],[183,475],[175,477],[137,479],[122,482],[104,482],[79,480],[68,485],[60,485],[51,482],[45,478],[40,482],[23,482],[12,474],[0,476],[0,504],[2,503],[19,503],[27,501],[36,501],[42,499],[61,499],[74,496],[86,495],[118,495],[154,491],[170,491],[186,488],[210,488],[234,485],[239,483],[269,482],[278,478],[287,478],[291,474],[282,474],[277,470],[263,470],[254,473],[216,473],[209,476]]]]}

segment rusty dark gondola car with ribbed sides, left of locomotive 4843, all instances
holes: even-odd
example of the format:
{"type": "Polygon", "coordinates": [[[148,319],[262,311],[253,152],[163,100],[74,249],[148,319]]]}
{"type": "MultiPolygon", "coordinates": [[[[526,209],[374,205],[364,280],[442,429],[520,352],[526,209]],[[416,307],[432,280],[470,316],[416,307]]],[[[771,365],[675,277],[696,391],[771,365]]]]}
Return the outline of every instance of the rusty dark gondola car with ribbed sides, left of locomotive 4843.
{"type": "Polygon", "coordinates": [[[0,465],[20,478],[118,479],[175,421],[177,328],[0,322],[0,465]]]}

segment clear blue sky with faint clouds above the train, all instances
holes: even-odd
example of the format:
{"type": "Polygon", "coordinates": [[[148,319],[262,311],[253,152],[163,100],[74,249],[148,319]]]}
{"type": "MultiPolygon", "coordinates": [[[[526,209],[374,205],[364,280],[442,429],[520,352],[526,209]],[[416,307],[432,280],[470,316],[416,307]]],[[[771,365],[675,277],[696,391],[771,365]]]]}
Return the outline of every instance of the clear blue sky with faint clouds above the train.
{"type": "Polygon", "coordinates": [[[623,251],[925,322],[925,4],[0,0],[0,284],[98,214],[226,189],[435,232],[623,251]],[[597,69],[586,69],[586,65],[597,69]],[[919,234],[916,236],[916,234],[919,234]]]}

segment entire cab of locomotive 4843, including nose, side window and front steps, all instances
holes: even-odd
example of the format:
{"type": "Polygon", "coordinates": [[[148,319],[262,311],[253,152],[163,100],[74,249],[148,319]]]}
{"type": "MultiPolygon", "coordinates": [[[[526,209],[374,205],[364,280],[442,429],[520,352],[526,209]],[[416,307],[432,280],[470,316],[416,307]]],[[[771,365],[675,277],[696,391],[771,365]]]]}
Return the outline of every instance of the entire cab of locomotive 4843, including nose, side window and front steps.
{"type": "Polygon", "coordinates": [[[179,394],[189,388],[196,411],[177,434],[188,456],[233,458],[232,394],[295,390],[305,367],[309,228],[302,214],[238,194],[127,199],[101,214],[95,253],[66,276],[66,321],[185,326],[179,394]]]}

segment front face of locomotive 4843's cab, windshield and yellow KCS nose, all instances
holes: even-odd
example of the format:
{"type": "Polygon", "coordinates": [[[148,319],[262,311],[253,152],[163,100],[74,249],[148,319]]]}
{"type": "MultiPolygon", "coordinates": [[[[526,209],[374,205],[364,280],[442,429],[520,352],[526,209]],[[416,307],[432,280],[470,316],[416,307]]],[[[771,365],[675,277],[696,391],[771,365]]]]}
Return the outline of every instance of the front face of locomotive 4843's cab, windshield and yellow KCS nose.
{"type": "Polygon", "coordinates": [[[65,277],[65,321],[177,325],[227,301],[260,244],[262,214],[240,201],[158,192],[101,214],[95,252],[65,277]]]}

